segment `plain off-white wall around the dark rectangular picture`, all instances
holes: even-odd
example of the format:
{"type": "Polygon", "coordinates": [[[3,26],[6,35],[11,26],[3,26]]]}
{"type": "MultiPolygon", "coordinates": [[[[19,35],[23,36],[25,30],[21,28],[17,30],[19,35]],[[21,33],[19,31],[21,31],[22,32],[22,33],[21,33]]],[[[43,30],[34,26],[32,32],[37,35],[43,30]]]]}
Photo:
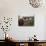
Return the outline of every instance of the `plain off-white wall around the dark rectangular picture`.
{"type": "MultiPolygon", "coordinates": [[[[27,40],[34,34],[37,39],[46,40],[45,37],[45,6],[40,8],[33,8],[29,5],[28,0],[0,0],[0,16],[12,17],[13,22],[10,31],[10,37],[16,40],[27,40]],[[34,16],[35,25],[33,27],[19,27],[18,16],[34,16]]],[[[0,31],[2,35],[2,31],[0,31]]],[[[0,39],[3,37],[0,36],[0,39]]],[[[4,38],[3,38],[4,39],[4,38]]]]}

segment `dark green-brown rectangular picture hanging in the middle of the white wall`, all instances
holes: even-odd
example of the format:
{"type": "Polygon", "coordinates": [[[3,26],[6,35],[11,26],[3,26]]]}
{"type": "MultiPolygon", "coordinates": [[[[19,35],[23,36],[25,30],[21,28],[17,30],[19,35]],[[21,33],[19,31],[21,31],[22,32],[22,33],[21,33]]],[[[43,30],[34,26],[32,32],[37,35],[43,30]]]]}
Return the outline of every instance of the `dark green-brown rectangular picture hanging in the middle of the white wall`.
{"type": "Polygon", "coordinates": [[[34,26],[34,16],[18,16],[18,26],[34,26]]]}

